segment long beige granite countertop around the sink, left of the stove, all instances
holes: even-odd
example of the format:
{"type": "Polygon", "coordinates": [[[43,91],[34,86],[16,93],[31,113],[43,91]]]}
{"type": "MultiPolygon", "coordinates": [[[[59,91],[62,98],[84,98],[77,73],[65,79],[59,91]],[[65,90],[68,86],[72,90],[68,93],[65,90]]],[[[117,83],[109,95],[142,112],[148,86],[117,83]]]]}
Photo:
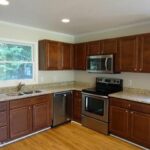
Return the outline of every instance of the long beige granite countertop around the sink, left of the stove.
{"type": "MultiPolygon", "coordinates": [[[[38,90],[41,90],[40,93],[33,93],[33,94],[24,94],[19,96],[10,96],[7,93],[1,93],[0,94],[0,102],[3,101],[10,101],[10,100],[16,100],[16,99],[23,99],[27,97],[33,97],[33,96],[39,96],[39,95],[45,95],[45,94],[51,94],[56,92],[63,92],[63,91],[69,91],[69,90],[78,90],[81,91],[84,88],[91,87],[88,84],[73,84],[73,85],[55,85],[55,86],[49,86],[49,87],[42,87],[38,90]]],[[[9,92],[11,93],[11,92],[9,92]]],[[[12,92],[12,94],[15,92],[12,92]]]]}

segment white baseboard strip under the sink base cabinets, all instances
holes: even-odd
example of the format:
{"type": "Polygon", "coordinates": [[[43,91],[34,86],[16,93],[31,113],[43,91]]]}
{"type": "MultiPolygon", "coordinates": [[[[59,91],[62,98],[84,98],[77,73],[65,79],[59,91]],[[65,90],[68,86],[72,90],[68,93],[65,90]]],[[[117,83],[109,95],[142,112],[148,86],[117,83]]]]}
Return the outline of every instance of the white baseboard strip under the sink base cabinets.
{"type": "Polygon", "coordinates": [[[51,127],[42,129],[42,130],[40,130],[40,131],[36,131],[36,132],[34,132],[34,133],[25,135],[25,136],[23,136],[23,137],[17,138],[17,139],[12,140],[12,141],[8,141],[8,142],[5,142],[5,143],[1,143],[1,144],[0,144],[0,147],[6,146],[6,145],[11,144],[11,143],[15,143],[15,142],[17,142],[17,141],[23,140],[23,139],[25,139],[25,138],[27,138],[27,137],[33,136],[33,135],[35,135],[35,134],[38,134],[38,133],[40,133],[40,132],[43,132],[43,131],[46,131],[46,130],[49,130],[49,129],[51,129],[51,127]]]}

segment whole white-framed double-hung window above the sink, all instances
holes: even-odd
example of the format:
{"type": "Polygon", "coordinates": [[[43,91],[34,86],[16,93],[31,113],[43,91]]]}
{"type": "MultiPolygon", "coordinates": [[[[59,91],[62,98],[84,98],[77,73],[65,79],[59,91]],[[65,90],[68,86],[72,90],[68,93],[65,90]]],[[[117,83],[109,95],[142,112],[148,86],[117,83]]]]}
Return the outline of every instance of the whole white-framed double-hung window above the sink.
{"type": "Polygon", "coordinates": [[[0,81],[34,80],[34,44],[0,41],[0,81]]]}

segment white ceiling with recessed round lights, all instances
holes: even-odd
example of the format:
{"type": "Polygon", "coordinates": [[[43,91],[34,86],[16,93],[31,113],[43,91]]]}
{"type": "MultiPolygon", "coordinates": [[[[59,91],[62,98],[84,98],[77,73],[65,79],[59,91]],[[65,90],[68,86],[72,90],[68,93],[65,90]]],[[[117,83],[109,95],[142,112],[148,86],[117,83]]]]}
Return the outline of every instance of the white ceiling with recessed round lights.
{"type": "Polygon", "coordinates": [[[0,20],[80,35],[150,21],[150,0],[9,0],[0,20]],[[61,23],[70,18],[69,24],[61,23]]]}

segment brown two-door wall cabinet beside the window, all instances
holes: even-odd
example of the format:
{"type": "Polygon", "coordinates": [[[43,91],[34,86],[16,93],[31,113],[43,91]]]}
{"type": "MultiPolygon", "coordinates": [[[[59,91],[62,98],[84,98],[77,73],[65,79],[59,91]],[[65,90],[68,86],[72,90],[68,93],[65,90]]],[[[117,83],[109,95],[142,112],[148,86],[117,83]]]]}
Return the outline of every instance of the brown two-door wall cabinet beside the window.
{"type": "Polygon", "coordinates": [[[57,41],[39,41],[39,69],[61,70],[72,69],[72,44],[57,41]]]}

